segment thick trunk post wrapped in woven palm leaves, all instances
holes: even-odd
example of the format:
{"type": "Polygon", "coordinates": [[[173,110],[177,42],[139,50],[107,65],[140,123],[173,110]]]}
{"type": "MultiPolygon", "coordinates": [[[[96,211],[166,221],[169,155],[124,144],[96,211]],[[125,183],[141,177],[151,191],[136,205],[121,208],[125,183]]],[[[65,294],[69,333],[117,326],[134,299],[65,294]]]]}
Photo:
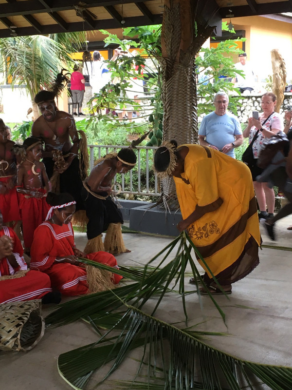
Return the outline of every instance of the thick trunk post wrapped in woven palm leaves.
{"type": "MultiPolygon", "coordinates": [[[[196,21],[200,0],[164,0],[162,23],[163,139],[197,143],[195,56],[214,27],[196,21]],[[196,28],[195,28],[196,26],[196,28]]],[[[172,178],[162,181],[164,205],[178,208],[172,178]]]]}

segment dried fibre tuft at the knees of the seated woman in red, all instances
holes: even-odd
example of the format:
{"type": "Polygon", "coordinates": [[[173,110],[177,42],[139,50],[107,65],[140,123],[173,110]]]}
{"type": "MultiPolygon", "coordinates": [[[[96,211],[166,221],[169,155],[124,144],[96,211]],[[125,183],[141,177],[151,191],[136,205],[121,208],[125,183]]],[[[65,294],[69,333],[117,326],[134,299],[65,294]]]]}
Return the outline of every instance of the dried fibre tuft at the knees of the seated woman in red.
{"type": "Polygon", "coordinates": [[[86,265],[86,274],[88,293],[112,290],[115,287],[112,272],[86,265]]]}

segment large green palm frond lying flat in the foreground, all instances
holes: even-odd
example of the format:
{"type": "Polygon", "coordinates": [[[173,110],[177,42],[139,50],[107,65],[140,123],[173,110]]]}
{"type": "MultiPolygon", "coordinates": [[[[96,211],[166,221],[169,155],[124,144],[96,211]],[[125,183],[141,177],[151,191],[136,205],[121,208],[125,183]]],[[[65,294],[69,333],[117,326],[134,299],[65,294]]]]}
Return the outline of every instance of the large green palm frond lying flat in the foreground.
{"type": "Polygon", "coordinates": [[[125,314],[115,320],[112,329],[96,343],[59,356],[59,373],[74,389],[85,389],[94,370],[112,361],[103,379],[97,381],[97,384],[102,383],[137,347],[142,348],[137,372],[133,374],[134,383],[141,374],[145,375],[145,384],[139,382],[138,388],[127,382],[125,389],[255,390],[258,386],[262,388],[262,384],[272,390],[291,389],[291,368],[238,359],[208,346],[187,330],[133,307],[128,307],[125,314]],[[162,381],[164,387],[161,387],[162,381]]]}

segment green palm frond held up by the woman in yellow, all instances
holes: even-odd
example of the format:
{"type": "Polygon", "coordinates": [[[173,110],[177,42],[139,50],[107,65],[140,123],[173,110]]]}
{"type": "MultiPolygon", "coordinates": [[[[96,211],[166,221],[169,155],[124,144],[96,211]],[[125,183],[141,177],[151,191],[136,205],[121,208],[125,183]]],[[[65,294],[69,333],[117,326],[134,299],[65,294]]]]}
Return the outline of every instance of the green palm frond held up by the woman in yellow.
{"type": "MultiPolygon", "coordinates": [[[[201,257],[197,248],[183,232],[170,242],[162,251],[155,255],[148,264],[146,264],[143,271],[126,267],[122,267],[120,270],[115,270],[115,273],[118,273],[135,283],[129,284],[128,286],[118,287],[112,292],[97,292],[66,302],[63,305],[60,305],[55,312],[51,313],[46,318],[47,324],[64,325],[79,318],[85,318],[95,312],[114,310],[119,307],[121,300],[127,304],[129,303],[132,306],[142,309],[146,302],[153,296],[157,297],[155,306],[152,309],[152,314],[154,314],[164,298],[164,295],[167,293],[180,294],[185,320],[187,321],[188,313],[185,304],[185,296],[189,292],[186,292],[184,288],[184,275],[187,265],[190,265],[193,274],[196,275],[198,280],[196,291],[198,291],[199,283],[206,287],[193,259],[194,254],[191,252],[192,249],[194,249],[197,255],[201,257]],[[157,259],[159,259],[160,262],[157,266],[153,267],[152,263],[157,259]],[[175,290],[177,287],[178,291],[175,290]]],[[[204,262],[202,257],[201,260],[204,262]]],[[[105,264],[81,258],[80,261],[99,269],[112,271],[112,268],[105,264]]],[[[222,319],[225,321],[224,312],[220,309],[211,293],[209,296],[219,311],[222,319]]],[[[200,294],[198,294],[198,297],[200,305],[202,306],[200,294]]]]}

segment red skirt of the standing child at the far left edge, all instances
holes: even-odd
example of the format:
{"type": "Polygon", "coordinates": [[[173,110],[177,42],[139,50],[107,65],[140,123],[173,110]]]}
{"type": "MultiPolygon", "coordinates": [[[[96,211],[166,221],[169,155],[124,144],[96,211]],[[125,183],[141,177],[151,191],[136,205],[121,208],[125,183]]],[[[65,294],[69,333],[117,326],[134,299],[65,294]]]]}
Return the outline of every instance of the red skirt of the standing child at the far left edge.
{"type": "MultiPolygon", "coordinates": [[[[7,184],[13,176],[2,176],[0,182],[7,184]]],[[[3,223],[19,221],[19,206],[16,187],[7,194],[0,194],[0,210],[3,215],[3,223]]]]}

